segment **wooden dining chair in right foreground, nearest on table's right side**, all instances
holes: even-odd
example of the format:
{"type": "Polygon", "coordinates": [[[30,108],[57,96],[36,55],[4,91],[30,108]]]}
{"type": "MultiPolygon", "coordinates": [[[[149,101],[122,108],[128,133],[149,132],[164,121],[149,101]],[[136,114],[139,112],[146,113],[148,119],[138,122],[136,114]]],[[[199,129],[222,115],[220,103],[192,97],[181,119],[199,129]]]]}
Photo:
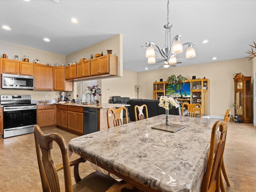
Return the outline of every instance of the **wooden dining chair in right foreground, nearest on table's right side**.
{"type": "Polygon", "coordinates": [[[223,161],[223,153],[226,142],[226,133],[228,130],[229,117],[226,121],[218,120],[212,126],[212,134],[210,138],[210,148],[206,171],[201,185],[201,192],[219,192],[221,186],[221,167],[223,161]],[[218,142],[216,141],[217,131],[220,131],[218,142]],[[216,150],[215,150],[216,149],[216,150]]]}

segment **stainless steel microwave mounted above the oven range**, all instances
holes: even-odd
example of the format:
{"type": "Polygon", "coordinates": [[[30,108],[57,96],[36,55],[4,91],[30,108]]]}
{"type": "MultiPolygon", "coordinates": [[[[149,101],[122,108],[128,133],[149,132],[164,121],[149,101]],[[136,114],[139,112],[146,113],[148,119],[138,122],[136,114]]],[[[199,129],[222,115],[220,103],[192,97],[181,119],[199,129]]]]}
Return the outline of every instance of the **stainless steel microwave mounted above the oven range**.
{"type": "Polygon", "coordinates": [[[2,89],[34,89],[34,77],[3,73],[2,89]]]}

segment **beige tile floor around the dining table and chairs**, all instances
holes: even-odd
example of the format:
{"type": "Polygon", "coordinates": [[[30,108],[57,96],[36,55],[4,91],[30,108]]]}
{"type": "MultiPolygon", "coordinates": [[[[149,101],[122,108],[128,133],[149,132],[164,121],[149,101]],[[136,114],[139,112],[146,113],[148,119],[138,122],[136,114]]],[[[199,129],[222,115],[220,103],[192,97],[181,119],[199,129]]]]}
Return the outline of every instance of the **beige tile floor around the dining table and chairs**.
{"type": "MultiPolygon", "coordinates": [[[[44,133],[58,132],[66,142],[76,137],[55,126],[44,128],[44,133]]],[[[210,141],[210,138],[209,138],[210,141]]],[[[52,156],[56,156],[57,148],[52,156]]],[[[72,159],[78,158],[75,154],[72,159]]],[[[230,122],[224,163],[230,181],[226,192],[254,192],[256,191],[256,127],[252,124],[237,124],[230,122]]],[[[57,163],[61,159],[54,158],[57,163]]],[[[89,163],[80,168],[81,177],[94,169],[89,163]]],[[[63,173],[60,172],[62,186],[63,173]]],[[[73,179],[74,182],[74,179],[73,179]]],[[[41,180],[38,171],[34,134],[26,134],[12,138],[0,139],[0,192],[41,192],[41,180]]],[[[64,188],[62,189],[64,191],[64,188]]]]}

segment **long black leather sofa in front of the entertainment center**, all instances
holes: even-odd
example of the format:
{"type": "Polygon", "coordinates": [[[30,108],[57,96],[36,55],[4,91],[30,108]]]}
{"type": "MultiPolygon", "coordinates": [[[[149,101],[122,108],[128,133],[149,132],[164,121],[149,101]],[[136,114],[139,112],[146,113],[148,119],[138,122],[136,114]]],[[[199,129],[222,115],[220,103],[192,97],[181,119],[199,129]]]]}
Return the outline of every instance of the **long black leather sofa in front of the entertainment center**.
{"type": "MultiPolygon", "coordinates": [[[[130,99],[128,100],[127,104],[130,104],[130,106],[128,107],[130,121],[135,121],[135,114],[134,114],[135,105],[141,106],[142,104],[145,104],[148,107],[148,117],[165,114],[165,109],[158,106],[159,100],[157,99],[130,99]]],[[[146,116],[144,109],[142,112],[146,116]]],[[[170,109],[169,114],[181,115],[180,106],[178,108],[173,107],[172,109],[170,109]]]]}

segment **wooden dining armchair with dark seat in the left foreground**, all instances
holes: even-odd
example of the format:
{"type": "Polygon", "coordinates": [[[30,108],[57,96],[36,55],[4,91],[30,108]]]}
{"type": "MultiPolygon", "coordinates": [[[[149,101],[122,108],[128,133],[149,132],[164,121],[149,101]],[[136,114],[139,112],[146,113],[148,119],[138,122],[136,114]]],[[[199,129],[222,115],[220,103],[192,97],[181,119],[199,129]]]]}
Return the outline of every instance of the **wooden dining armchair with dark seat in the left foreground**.
{"type": "Polygon", "coordinates": [[[44,134],[40,127],[35,125],[34,137],[43,192],[60,192],[58,178],[58,171],[60,170],[64,171],[65,192],[104,192],[108,189],[109,191],[120,191],[121,188],[131,188],[131,185],[123,180],[118,182],[114,178],[99,172],[93,172],[81,179],[78,172],[78,165],[86,160],[79,158],[70,162],[68,147],[60,134],[44,134]],[[51,150],[53,148],[53,142],[56,142],[60,147],[62,164],[55,165],[52,160],[51,150]],[[74,185],[72,185],[70,166],[74,166],[74,178],[76,181],[74,185]]]}

